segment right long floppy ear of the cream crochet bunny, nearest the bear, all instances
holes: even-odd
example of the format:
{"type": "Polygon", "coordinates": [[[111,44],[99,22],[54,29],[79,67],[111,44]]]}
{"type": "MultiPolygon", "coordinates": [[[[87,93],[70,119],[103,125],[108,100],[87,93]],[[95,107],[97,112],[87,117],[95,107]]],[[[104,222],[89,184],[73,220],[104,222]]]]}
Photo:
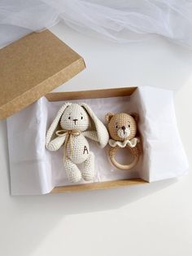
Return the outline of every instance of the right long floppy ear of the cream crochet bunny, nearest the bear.
{"type": "Polygon", "coordinates": [[[80,104],[81,107],[85,108],[86,112],[89,114],[89,117],[91,119],[93,130],[96,131],[97,134],[97,141],[101,148],[104,148],[109,139],[108,131],[106,126],[103,125],[103,122],[96,117],[93,110],[89,108],[89,106],[85,103],[80,104]]]}

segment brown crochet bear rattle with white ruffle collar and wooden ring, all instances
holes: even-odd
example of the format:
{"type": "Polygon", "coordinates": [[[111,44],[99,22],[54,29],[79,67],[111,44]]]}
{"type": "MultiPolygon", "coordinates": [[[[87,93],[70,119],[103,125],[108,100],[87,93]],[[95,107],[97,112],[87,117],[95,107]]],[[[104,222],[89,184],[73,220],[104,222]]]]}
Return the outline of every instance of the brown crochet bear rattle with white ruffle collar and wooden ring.
{"type": "Polygon", "coordinates": [[[137,165],[140,155],[138,148],[139,139],[137,134],[137,114],[136,113],[107,113],[107,127],[111,139],[109,139],[109,157],[111,163],[121,170],[129,170],[137,165]],[[128,165],[121,165],[116,161],[116,152],[119,148],[128,148],[133,155],[133,161],[128,165]]]}

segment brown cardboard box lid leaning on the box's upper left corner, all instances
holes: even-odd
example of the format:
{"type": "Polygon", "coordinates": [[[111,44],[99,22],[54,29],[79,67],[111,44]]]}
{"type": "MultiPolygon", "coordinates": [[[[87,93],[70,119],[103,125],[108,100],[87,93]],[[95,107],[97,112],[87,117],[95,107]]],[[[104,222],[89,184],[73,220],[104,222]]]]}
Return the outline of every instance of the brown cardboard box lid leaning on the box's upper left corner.
{"type": "Polygon", "coordinates": [[[0,50],[0,119],[11,116],[85,68],[80,55],[49,30],[0,50]]]}

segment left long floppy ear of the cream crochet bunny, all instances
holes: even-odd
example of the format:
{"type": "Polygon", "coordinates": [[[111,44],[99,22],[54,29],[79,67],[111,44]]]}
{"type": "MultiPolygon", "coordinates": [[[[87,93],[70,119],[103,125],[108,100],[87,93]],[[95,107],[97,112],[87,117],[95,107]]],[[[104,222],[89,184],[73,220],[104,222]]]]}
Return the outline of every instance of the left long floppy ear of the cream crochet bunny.
{"type": "Polygon", "coordinates": [[[48,144],[50,143],[50,140],[52,139],[53,135],[55,135],[55,132],[57,130],[57,126],[59,125],[59,121],[60,121],[60,119],[63,115],[63,112],[70,105],[71,105],[71,103],[63,104],[63,106],[59,109],[59,112],[57,113],[54,121],[50,125],[49,130],[47,130],[47,132],[46,132],[46,148],[47,148],[48,144]]]}

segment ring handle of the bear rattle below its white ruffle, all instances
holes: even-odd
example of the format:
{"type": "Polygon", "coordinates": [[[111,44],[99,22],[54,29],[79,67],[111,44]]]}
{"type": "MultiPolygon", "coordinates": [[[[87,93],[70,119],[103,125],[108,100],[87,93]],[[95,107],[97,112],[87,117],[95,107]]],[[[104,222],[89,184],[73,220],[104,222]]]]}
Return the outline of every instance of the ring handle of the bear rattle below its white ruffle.
{"type": "MultiPolygon", "coordinates": [[[[127,147],[129,148],[129,147],[127,147]]],[[[109,157],[111,160],[111,163],[116,166],[116,168],[121,169],[121,170],[130,170],[132,169],[134,166],[137,165],[137,162],[139,160],[139,151],[138,148],[135,147],[134,150],[132,150],[131,148],[129,148],[131,154],[133,155],[133,161],[129,164],[129,165],[121,165],[120,163],[118,163],[116,161],[116,152],[119,150],[119,147],[115,147],[115,148],[110,148],[109,150],[109,157]]]]}

